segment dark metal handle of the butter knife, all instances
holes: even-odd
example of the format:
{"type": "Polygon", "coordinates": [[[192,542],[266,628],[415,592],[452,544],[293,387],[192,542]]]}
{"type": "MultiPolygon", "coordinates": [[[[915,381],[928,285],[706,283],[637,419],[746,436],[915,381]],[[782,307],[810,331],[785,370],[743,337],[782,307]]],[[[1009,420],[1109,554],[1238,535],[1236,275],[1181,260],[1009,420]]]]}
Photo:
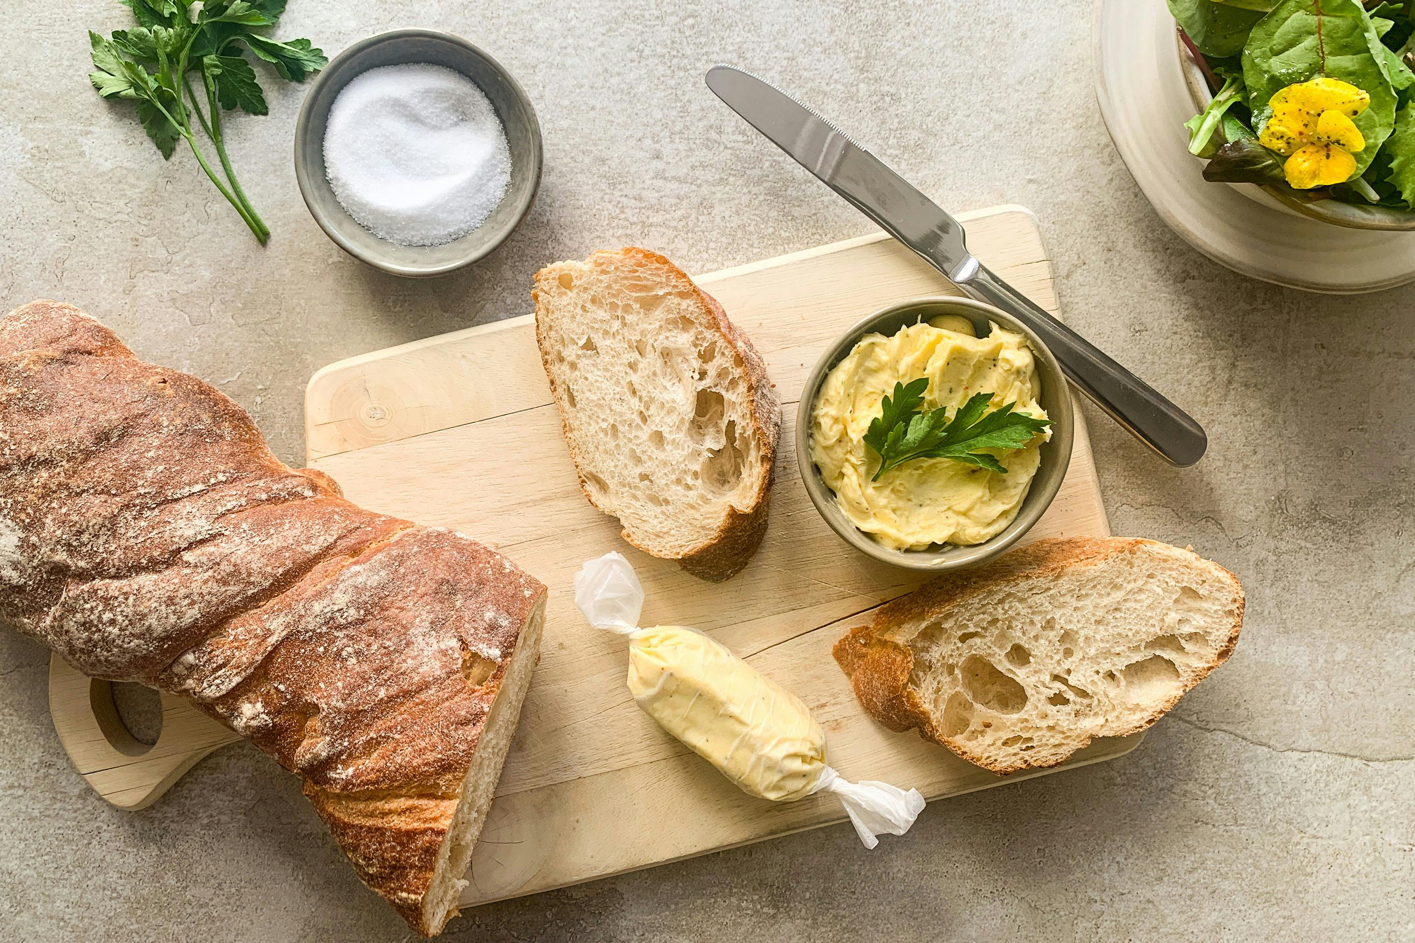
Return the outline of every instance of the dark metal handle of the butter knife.
{"type": "Polygon", "coordinates": [[[969,295],[1002,308],[1036,331],[1056,355],[1067,379],[1160,458],[1186,468],[1204,457],[1208,435],[1189,413],[1047,314],[986,266],[978,266],[975,276],[957,284],[969,295]]]}

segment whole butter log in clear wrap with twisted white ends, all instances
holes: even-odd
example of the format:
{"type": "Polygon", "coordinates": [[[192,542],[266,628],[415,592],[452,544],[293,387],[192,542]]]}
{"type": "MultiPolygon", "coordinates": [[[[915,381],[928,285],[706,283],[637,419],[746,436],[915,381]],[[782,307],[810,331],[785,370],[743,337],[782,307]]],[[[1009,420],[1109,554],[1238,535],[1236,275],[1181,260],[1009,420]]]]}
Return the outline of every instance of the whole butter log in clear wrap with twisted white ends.
{"type": "Polygon", "coordinates": [[[842,779],[801,698],[717,642],[678,625],[640,628],[644,587],[623,554],[574,574],[574,605],[590,625],[628,636],[628,690],[644,713],[743,792],[773,802],[832,792],[866,848],[904,834],[924,810],[917,789],[842,779]]]}

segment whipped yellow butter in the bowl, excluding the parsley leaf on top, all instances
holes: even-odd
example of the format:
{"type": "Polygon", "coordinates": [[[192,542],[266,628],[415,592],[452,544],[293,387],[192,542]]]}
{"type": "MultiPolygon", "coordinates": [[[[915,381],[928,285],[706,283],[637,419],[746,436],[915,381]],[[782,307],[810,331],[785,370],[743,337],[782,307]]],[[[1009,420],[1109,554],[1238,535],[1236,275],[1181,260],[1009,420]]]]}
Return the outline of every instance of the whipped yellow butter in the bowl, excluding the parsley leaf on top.
{"type": "Polygon", "coordinates": [[[1027,496],[1050,430],[1023,448],[998,452],[1006,474],[949,458],[920,458],[870,481],[879,455],[865,444],[870,421],[896,383],[928,377],[924,409],[957,410],[974,393],[992,393],[988,409],[1016,403],[1016,411],[1046,418],[1037,403],[1032,349],[996,324],[983,338],[966,318],[945,315],[867,334],[826,375],[811,414],[811,458],[852,525],[894,550],[935,543],[982,543],[1012,523],[1027,496]]]}

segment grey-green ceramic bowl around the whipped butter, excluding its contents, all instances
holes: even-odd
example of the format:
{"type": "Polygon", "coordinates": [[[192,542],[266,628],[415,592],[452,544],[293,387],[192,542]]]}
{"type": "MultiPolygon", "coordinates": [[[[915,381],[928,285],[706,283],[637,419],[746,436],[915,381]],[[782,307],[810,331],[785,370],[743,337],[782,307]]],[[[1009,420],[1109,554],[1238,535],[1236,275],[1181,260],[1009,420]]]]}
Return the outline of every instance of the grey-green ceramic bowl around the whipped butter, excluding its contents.
{"type": "Polygon", "coordinates": [[[972,567],[996,557],[1017,543],[1022,534],[1027,533],[1032,525],[1037,523],[1037,519],[1051,505],[1051,499],[1056,498],[1057,489],[1061,488],[1061,479],[1065,478],[1065,469],[1071,464],[1071,440],[1074,434],[1075,416],[1071,409],[1071,392],[1067,387],[1065,376],[1061,373],[1061,365],[1051,356],[1051,351],[1047,349],[1041,339],[1010,314],[999,311],[990,304],[971,298],[940,295],[910,298],[908,301],[891,304],[862,320],[841,335],[831,349],[821,356],[811,375],[807,376],[805,389],[801,393],[801,404],[797,407],[795,447],[797,464],[801,467],[801,478],[805,482],[807,493],[811,496],[811,503],[815,505],[815,509],[825,517],[825,523],[841,539],[856,550],[896,567],[944,573],[947,570],[972,567]],[[999,327],[1016,331],[1027,339],[1027,346],[1032,348],[1032,353],[1036,358],[1037,379],[1041,382],[1039,402],[1041,403],[1041,409],[1047,411],[1047,416],[1051,417],[1051,441],[1041,445],[1041,464],[1032,479],[1027,496],[1022,500],[1017,516],[998,536],[971,547],[935,544],[937,549],[931,550],[891,550],[877,543],[867,533],[857,530],[835,503],[835,492],[825,484],[821,478],[821,471],[811,461],[811,413],[815,409],[815,397],[825,382],[825,375],[845,359],[862,336],[866,334],[883,334],[887,336],[904,325],[928,321],[941,314],[959,314],[968,318],[972,321],[974,331],[979,336],[986,335],[990,331],[988,322],[995,321],[999,327]]]}

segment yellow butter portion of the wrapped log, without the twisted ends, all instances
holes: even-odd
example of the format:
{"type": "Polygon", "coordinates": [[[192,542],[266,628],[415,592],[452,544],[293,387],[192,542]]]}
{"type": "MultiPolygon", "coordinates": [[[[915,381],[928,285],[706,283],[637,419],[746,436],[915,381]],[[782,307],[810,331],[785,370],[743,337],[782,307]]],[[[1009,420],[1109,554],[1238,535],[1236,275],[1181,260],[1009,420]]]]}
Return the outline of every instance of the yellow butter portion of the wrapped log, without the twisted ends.
{"type": "Polygon", "coordinates": [[[644,713],[737,783],[802,799],[825,771],[825,731],[791,691],[678,625],[628,636],[628,690],[644,713]]]}

